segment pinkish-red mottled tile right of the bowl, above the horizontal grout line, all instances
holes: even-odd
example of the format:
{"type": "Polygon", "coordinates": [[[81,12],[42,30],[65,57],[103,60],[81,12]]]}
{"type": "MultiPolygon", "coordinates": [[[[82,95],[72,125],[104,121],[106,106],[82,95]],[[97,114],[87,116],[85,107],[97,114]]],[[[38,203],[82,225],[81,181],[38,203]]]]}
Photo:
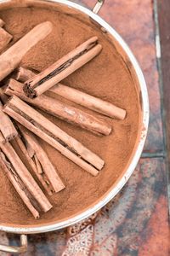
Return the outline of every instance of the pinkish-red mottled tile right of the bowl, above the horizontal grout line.
{"type": "MultiPolygon", "coordinates": [[[[78,2],[92,7],[91,0],[78,2]]],[[[150,131],[144,151],[161,153],[164,146],[156,65],[153,1],[108,0],[105,1],[99,15],[122,35],[142,67],[150,96],[150,131]]]]}

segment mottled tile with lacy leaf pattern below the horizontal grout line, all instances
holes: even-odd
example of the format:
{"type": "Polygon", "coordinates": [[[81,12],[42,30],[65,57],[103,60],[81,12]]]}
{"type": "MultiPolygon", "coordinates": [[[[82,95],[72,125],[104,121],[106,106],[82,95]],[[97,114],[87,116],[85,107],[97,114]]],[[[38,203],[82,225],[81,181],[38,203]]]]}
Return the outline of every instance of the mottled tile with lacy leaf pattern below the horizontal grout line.
{"type": "MultiPolygon", "coordinates": [[[[101,212],[68,230],[29,236],[26,256],[168,256],[168,236],[164,160],[144,159],[101,212]]],[[[3,239],[19,243],[18,236],[3,239]]]]}

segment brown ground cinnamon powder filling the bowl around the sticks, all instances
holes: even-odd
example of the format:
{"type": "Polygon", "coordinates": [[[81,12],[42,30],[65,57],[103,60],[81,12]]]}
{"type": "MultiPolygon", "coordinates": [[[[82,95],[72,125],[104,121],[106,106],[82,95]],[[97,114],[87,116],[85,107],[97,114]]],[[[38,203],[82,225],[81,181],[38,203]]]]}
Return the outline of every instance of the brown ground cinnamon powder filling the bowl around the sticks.
{"type": "Polygon", "coordinates": [[[131,74],[121,55],[95,25],[88,26],[78,16],[64,15],[54,9],[34,7],[0,10],[0,18],[5,21],[5,29],[14,36],[14,41],[42,21],[53,22],[53,32],[31,49],[21,63],[23,67],[31,67],[37,71],[48,67],[88,38],[98,36],[99,43],[103,46],[101,54],[65,79],[63,83],[127,110],[127,118],[120,121],[103,118],[97,113],[78,107],[111,123],[113,131],[108,137],[95,136],[81,128],[49,117],[72,137],[99,154],[105,160],[105,168],[98,177],[92,177],[47,143],[39,140],[66,185],[63,191],[48,197],[54,208],[42,214],[39,220],[31,216],[8,182],[3,170],[0,170],[0,224],[42,224],[59,221],[94,204],[123,172],[132,154],[139,130],[138,96],[131,74]]]}

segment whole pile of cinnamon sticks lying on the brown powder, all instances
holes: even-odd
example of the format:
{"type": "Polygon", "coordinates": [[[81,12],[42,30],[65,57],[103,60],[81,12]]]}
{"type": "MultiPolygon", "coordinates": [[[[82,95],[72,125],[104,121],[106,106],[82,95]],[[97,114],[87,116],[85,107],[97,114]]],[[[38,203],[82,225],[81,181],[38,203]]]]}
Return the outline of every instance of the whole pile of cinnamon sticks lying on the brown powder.
{"type": "MultiPolygon", "coordinates": [[[[4,22],[0,19],[0,35],[4,33],[1,30],[2,26],[4,22]]],[[[0,55],[0,81],[18,68],[29,49],[45,39],[52,29],[51,22],[43,22],[4,51],[0,55]]],[[[3,44],[6,46],[11,39],[12,36],[6,36],[3,44]]],[[[37,109],[72,125],[78,125],[98,136],[109,136],[111,125],[101,117],[78,108],[78,105],[110,118],[126,117],[126,111],[111,102],[105,102],[65,84],[59,84],[71,73],[92,61],[101,50],[102,46],[98,38],[89,38],[41,73],[19,67],[16,79],[9,79],[8,84],[0,91],[0,162],[14,189],[35,218],[40,217],[41,211],[48,212],[53,207],[45,194],[49,196],[59,193],[66,185],[59,177],[48,154],[38,143],[37,137],[93,176],[97,176],[105,166],[105,161],[97,154],[54,125],[37,109]],[[48,95],[53,93],[76,103],[77,107],[48,96],[46,91],[48,95]],[[11,97],[8,99],[7,96],[11,97]],[[25,155],[32,173],[24,165],[12,141],[25,155]],[[42,189],[33,178],[33,174],[36,175],[42,189]]]]}

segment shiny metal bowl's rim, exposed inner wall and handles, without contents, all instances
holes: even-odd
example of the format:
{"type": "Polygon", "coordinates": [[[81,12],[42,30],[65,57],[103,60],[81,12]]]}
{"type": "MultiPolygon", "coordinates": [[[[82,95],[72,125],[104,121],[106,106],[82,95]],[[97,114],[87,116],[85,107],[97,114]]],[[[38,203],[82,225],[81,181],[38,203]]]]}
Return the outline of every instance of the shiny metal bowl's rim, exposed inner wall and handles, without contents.
{"type": "MultiPolygon", "coordinates": [[[[0,1],[0,7],[2,5],[7,5],[10,3],[9,1],[0,1]]],[[[76,224],[77,222],[81,221],[83,218],[88,218],[94,212],[99,211],[101,207],[104,207],[111,199],[122,189],[122,187],[127,183],[128,178],[132,175],[135,167],[139,162],[139,158],[142,154],[145,139],[147,136],[148,131],[148,123],[149,123],[149,99],[147,88],[144,80],[144,75],[139,67],[138,61],[136,61],[132,51],[128,48],[127,44],[124,42],[122,37],[109,25],[105,22],[105,20],[101,19],[97,13],[99,9],[102,7],[104,0],[98,0],[94,6],[93,10],[89,10],[85,7],[77,3],[72,3],[71,1],[66,0],[52,0],[52,1],[31,1],[31,0],[23,0],[23,1],[12,1],[14,6],[32,6],[32,4],[43,4],[46,6],[50,6],[52,3],[56,7],[61,7],[68,11],[72,15],[83,15],[89,22],[93,22],[95,26],[98,26],[99,29],[102,30],[109,38],[112,40],[113,44],[116,46],[117,51],[122,55],[122,58],[125,61],[130,63],[129,70],[131,72],[133,81],[136,84],[136,90],[139,95],[139,102],[141,105],[141,114],[140,114],[140,129],[139,129],[139,136],[136,141],[136,145],[133,149],[133,154],[131,159],[127,163],[127,168],[125,172],[122,173],[121,177],[118,177],[116,183],[114,183],[111,189],[100,199],[97,201],[93,206],[89,207],[86,211],[81,212],[71,218],[67,218],[62,222],[54,222],[50,224],[39,224],[34,225],[31,227],[26,226],[5,226],[0,225],[0,230],[6,232],[12,232],[17,234],[36,234],[36,233],[43,233],[53,230],[59,230],[69,225],[76,224]],[[16,2],[16,3],[15,3],[16,2]]],[[[23,253],[26,252],[27,247],[27,236],[21,235],[20,237],[21,247],[6,247],[0,245],[0,250],[5,252],[11,253],[23,253]]]]}

